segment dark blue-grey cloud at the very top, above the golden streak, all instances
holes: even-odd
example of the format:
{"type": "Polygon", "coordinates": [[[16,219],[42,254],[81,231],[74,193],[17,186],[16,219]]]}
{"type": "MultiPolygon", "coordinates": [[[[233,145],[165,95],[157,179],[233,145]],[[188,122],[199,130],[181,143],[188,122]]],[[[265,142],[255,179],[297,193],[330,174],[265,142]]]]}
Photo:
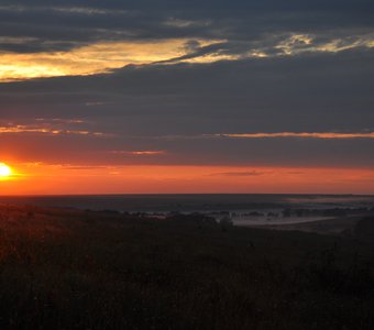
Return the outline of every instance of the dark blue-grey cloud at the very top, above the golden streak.
{"type": "Polygon", "coordinates": [[[2,1],[3,36],[33,38],[0,43],[29,53],[62,51],[90,42],[172,37],[271,42],[275,35],[314,33],[319,37],[372,32],[374,4],[346,1],[2,1]],[[46,29],[47,26],[47,29],[46,29]]]}

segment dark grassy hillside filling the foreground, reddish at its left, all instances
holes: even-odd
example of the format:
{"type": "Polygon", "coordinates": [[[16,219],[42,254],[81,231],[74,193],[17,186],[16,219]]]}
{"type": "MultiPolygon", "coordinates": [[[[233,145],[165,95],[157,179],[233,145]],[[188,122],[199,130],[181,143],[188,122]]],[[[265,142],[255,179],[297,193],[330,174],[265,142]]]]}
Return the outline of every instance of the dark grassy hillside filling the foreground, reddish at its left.
{"type": "Polygon", "coordinates": [[[374,329],[367,237],[197,216],[0,215],[1,329],[374,329]]]}

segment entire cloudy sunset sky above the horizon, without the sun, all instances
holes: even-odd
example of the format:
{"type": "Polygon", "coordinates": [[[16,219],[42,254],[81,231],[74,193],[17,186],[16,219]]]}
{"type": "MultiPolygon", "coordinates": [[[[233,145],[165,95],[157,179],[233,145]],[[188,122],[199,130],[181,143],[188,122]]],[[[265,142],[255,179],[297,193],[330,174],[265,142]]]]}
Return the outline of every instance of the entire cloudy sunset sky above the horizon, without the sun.
{"type": "Polygon", "coordinates": [[[373,90],[372,0],[0,0],[0,194],[374,194],[373,90]]]}

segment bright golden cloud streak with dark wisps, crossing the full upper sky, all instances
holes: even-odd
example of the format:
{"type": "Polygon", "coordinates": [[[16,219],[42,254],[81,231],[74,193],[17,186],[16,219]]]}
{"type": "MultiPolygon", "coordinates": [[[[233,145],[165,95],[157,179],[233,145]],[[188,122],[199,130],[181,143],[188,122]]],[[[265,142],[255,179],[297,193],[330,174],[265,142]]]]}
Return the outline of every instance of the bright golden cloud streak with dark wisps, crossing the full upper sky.
{"type": "MultiPolygon", "coordinates": [[[[272,36],[260,42],[209,38],[164,38],[150,41],[98,42],[59,52],[0,54],[0,82],[43,77],[87,76],[128,65],[194,63],[296,56],[302,53],[338,53],[374,47],[374,34],[318,41],[314,35],[272,36]]],[[[22,40],[13,40],[22,45],[22,40]]],[[[28,40],[28,38],[25,38],[28,40]]],[[[33,38],[31,38],[33,40],[33,38]]],[[[34,42],[34,41],[33,41],[34,42]]],[[[1,40],[0,40],[1,47],[1,40]]]]}

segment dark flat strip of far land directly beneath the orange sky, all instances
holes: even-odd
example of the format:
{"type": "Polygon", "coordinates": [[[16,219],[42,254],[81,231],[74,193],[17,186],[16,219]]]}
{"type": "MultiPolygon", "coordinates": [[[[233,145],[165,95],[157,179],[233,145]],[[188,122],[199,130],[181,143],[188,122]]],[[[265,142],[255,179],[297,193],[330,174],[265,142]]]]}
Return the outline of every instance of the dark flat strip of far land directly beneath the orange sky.
{"type": "Polygon", "coordinates": [[[374,210],[374,196],[306,194],[125,194],[0,196],[0,205],[145,212],[207,212],[222,210],[279,210],[366,208],[374,210]]]}

